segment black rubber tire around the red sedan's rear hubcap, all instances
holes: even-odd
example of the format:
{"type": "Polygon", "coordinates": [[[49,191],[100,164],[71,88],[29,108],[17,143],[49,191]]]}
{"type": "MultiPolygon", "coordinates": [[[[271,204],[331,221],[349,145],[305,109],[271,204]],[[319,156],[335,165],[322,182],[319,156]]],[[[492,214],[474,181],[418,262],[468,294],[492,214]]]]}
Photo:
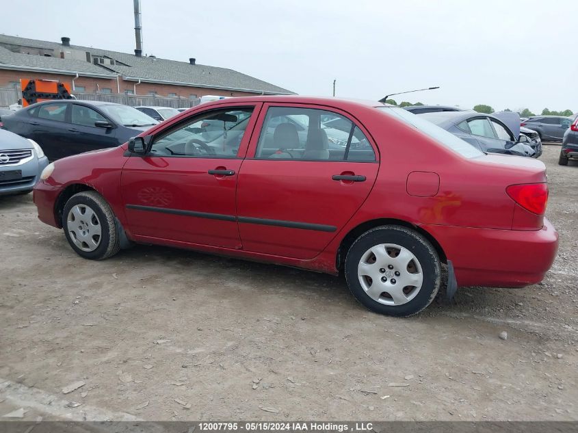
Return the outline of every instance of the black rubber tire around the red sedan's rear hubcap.
{"type": "MultiPolygon", "coordinates": [[[[345,258],[345,279],[353,296],[367,309],[383,315],[407,317],[425,309],[436,297],[441,286],[441,263],[428,239],[403,226],[379,226],[363,233],[352,244],[345,258]],[[409,302],[385,305],[373,300],[363,289],[358,277],[358,265],[363,255],[373,246],[395,244],[409,250],[419,261],[423,283],[409,302]]],[[[382,299],[382,298],[380,298],[382,299]]]]}

